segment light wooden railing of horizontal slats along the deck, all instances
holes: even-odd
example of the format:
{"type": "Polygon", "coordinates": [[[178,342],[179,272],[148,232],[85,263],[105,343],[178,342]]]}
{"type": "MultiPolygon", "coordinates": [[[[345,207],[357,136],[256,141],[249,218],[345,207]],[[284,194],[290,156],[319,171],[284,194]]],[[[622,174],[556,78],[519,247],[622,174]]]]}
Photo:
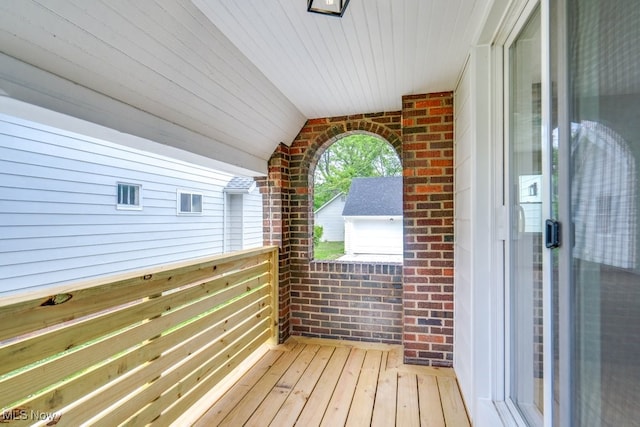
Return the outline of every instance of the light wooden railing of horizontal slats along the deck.
{"type": "Polygon", "coordinates": [[[277,337],[277,266],[265,247],[0,300],[0,423],[170,424],[277,337]]]}

